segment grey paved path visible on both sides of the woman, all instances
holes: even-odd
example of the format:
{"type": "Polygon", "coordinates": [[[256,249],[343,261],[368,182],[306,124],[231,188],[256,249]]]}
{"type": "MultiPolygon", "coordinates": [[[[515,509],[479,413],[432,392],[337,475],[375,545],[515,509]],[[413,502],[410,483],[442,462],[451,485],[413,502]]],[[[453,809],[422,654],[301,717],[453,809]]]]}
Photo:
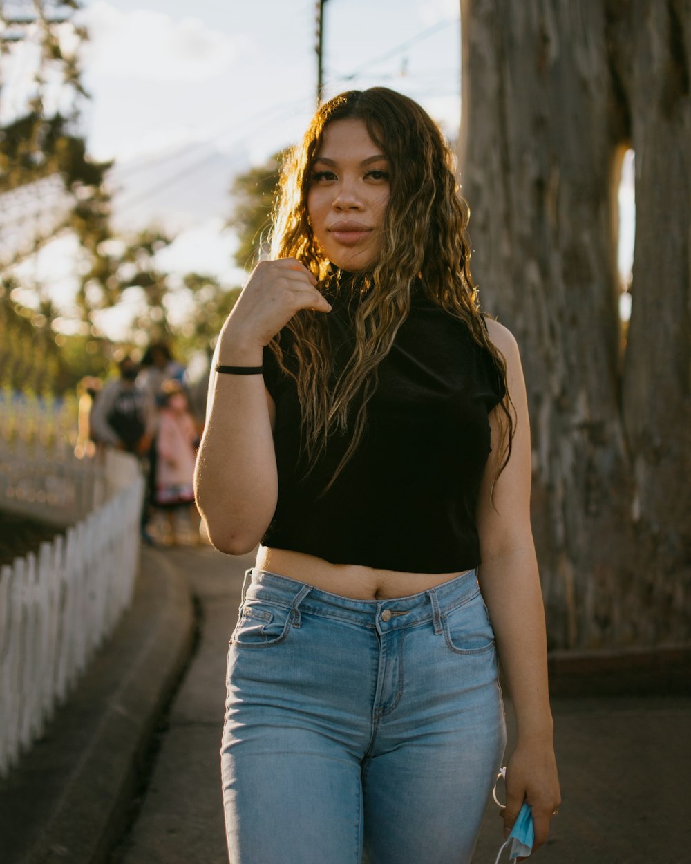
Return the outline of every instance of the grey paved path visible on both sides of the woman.
{"type": "MultiPolygon", "coordinates": [[[[208,548],[166,555],[200,599],[201,640],[136,823],[111,864],[227,864],[219,779],[225,654],[251,560],[208,548]]],[[[691,699],[561,698],[554,712],[564,803],[536,862],[691,862],[691,699]]],[[[493,864],[500,843],[491,804],[473,864],[493,864]]]]}

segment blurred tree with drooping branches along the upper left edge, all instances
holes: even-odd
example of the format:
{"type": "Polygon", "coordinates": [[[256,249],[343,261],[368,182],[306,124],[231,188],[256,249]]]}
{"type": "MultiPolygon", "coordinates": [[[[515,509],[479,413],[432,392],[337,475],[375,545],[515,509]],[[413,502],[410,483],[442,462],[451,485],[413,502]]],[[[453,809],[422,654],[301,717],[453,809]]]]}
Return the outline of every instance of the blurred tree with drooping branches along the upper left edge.
{"type": "MultiPolygon", "coordinates": [[[[14,245],[0,245],[2,327],[9,344],[22,342],[26,325],[34,328],[30,353],[3,369],[3,383],[34,391],[51,386],[61,391],[71,384],[70,362],[56,358],[73,337],[51,329],[56,310],[43,286],[26,280],[20,285],[16,276],[9,276],[10,268],[65,229],[76,232],[89,253],[110,237],[110,197],[104,181],[111,163],[90,159],[79,124],[86,92],[78,58],[86,31],[74,22],[78,8],[76,0],[0,3],[0,75],[8,79],[0,78],[5,118],[0,126],[0,212],[5,226],[20,227],[12,234],[14,245]],[[22,67],[22,75],[12,75],[16,66],[22,67]],[[10,292],[20,287],[24,295],[34,293],[31,308],[11,300],[10,292]],[[24,374],[22,364],[29,357],[34,372],[24,374]]],[[[98,365],[99,341],[88,335],[74,338],[97,346],[87,356],[98,365]]]]}

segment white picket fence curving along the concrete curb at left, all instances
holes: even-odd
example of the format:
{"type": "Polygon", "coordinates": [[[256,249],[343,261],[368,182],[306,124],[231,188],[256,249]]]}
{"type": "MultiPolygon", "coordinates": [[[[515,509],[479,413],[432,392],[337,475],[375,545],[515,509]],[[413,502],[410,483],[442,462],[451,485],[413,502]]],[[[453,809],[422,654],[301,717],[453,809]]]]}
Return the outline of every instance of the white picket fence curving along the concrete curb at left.
{"type": "Polygon", "coordinates": [[[49,452],[40,442],[2,437],[0,469],[0,511],[47,519],[62,531],[37,554],[0,569],[0,776],[6,776],[130,604],[143,477],[128,454],[78,460],[61,446],[49,452]]]}

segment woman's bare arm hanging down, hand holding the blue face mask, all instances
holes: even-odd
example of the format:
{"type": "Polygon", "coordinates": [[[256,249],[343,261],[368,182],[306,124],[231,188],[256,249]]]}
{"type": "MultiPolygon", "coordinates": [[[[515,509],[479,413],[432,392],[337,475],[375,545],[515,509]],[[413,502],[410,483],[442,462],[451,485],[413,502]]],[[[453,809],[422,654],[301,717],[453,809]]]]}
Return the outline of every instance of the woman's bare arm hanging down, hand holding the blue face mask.
{"type": "Polygon", "coordinates": [[[547,683],[547,638],[535,545],[530,529],[530,430],[528,402],[516,340],[497,321],[487,320],[492,342],[504,354],[513,402],[510,459],[504,459],[500,422],[491,411],[491,454],[478,502],[479,583],[497,638],[499,659],[516,711],[518,740],[507,763],[504,834],[527,801],[535,827],[534,849],[547,839],[549,822],[561,804],[547,683]]]}

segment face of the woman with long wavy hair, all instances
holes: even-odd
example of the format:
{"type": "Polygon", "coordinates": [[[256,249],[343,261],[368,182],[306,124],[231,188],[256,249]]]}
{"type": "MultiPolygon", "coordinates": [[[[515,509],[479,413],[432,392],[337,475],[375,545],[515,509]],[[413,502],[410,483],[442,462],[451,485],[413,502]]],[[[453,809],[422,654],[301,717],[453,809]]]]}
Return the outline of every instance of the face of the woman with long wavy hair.
{"type": "Polygon", "coordinates": [[[389,160],[362,120],[326,126],[314,158],[307,213],[324,255],[342,270],[377,263],[389,203],[389,160]]]}

